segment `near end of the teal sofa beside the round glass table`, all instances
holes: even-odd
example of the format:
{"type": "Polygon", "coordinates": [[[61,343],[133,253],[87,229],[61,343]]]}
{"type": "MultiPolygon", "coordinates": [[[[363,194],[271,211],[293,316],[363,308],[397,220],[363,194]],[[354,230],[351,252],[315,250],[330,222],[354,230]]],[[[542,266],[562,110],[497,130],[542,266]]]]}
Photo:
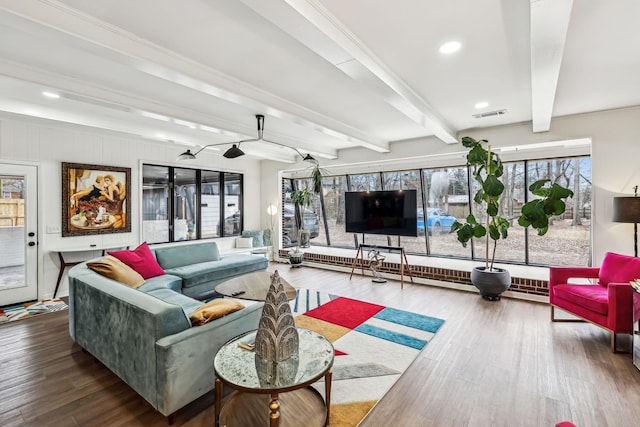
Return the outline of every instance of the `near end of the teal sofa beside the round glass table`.
{"type": "Polygon", "coordinates": [[[213,359],[229,340],[258,328],[264,303],[253,303],[156,343],[158,411],[171,414],[215,386],[213,359]]]}

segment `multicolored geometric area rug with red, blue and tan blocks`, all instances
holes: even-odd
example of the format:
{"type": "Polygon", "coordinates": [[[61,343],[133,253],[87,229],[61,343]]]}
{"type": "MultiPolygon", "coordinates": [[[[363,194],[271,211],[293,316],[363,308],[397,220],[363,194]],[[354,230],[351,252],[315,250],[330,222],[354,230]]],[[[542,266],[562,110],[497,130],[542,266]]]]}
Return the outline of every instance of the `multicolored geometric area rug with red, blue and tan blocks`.
{"type": "MultiPolygon", "coordinates": [[[[333,344],[332,427],[365,417],[431,341],[444,320],[350,298],[299,289],[296,326],[333,344]]],[[[324,384],[314,384],[324,395],[324,384]]]]}

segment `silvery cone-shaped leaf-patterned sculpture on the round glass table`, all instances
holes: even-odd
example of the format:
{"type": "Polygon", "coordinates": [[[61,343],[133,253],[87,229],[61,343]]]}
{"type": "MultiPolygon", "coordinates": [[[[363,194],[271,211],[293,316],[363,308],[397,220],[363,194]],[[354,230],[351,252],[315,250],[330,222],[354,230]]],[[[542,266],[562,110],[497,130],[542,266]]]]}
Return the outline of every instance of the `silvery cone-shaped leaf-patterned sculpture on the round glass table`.
{"type": "Polygon", "coordinates": [[[298,354],[298,330],[277,270],[271,276],[271,285],[262,308],[255,352],[272,362],[280,362],[298,354]]]}

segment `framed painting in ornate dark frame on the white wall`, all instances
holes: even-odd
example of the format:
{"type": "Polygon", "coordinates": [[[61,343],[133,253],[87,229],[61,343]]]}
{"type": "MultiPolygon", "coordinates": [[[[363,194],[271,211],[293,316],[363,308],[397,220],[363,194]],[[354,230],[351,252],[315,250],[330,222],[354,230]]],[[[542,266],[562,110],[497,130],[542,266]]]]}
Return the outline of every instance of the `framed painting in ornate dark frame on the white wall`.
{"type": "Polygon", "coordinates": [[[131,232],[131,168],[62,163],[62,237],[131,232]]]}

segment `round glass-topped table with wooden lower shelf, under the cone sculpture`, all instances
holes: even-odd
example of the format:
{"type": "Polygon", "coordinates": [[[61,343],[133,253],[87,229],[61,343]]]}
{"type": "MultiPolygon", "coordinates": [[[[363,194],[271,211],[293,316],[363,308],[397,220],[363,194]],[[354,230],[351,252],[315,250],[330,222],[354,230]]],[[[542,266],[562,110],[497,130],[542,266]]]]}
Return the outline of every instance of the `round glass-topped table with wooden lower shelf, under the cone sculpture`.
{"type": "Polygon", "coordinates": [[[328,426],[333,345],[322,335],[298,328],[299,351],[274,364],[245,349],[256,331],[226,343],[216,354],[216,426],[328,426]],[[326,402],[309,387],[324,377],[326,402]],[[234,392],[222,406],[222,387],[234,392]]]}

